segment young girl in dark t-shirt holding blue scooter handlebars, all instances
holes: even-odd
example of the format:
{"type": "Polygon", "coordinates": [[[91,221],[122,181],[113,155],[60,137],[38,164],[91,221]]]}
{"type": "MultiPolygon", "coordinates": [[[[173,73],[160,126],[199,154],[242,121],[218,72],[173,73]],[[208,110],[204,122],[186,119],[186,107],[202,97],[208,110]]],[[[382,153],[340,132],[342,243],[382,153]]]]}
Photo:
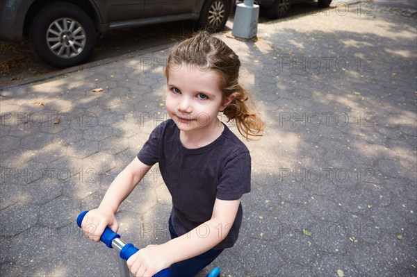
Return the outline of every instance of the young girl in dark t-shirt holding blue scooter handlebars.
{"type": "Polygon", "coordinates": [[[172,276],[195,276],[234,246],[242,222],[240,198],[250,192],[250,153],[218,119],[223,112],[246,140],[261,136],[263,121],[247,106],[238,83],[240,61],[207,32],[178,44],[167,60],[165,106],[171,119],[159,124],[138,156],[115,178],[99,208],[82,226],[99,242],[104,228],[117,232],[120,203],[156,162],[172,196],[172,240],[149,245],[127,261],[135,276],[170,267],[172,276]],[[87,226],[95,226],[91,231],[87,226]]]}

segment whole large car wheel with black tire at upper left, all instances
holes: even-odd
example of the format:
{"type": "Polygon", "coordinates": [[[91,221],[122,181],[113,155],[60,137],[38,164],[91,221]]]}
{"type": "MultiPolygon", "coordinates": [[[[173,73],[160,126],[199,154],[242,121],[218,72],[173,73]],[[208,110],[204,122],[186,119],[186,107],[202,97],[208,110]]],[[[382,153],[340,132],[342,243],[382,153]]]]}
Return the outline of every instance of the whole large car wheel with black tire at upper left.
{"type": "Polygon", "coordinates": [[[87,60],[95,45],[90,17],[71,3],[54,3],[35,15],[30,29],[35,52],[47,64],[63,68],[87,60]]]}

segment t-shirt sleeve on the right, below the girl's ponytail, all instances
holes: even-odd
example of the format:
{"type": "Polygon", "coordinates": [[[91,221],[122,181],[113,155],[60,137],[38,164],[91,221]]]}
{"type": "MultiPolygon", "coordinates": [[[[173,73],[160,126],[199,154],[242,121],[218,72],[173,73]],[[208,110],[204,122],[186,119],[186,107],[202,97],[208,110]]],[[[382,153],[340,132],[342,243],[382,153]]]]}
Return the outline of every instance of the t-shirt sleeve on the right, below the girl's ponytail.
{"type": "Polygon", "coordinates": [[[251,158],[249,152],[240,153],[229,160],[222,170],[216,198],[220,200],[240,199],[250,192],[251,158]]]}

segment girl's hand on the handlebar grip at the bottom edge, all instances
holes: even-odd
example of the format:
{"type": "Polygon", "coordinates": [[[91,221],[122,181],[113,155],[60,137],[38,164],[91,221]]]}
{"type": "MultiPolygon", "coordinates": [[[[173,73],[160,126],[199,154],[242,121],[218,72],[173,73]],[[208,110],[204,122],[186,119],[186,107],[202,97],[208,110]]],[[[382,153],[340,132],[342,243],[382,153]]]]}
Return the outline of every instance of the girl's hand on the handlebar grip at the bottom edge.
{"type": "Polygon", "coordinates": [[[127,267],[136,277],[154,276],[159,271],[170,267],[169,257],[163,245],[150,244],[140,249],[127,260],[127,267]]]}

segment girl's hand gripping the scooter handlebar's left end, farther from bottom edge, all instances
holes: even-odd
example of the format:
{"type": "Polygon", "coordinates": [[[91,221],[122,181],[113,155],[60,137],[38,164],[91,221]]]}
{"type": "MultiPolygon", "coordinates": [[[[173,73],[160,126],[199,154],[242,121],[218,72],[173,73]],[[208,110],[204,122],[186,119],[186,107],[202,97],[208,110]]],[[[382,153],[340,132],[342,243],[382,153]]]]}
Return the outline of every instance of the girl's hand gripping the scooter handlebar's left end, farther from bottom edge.
{"type": "Polygon", "coordinates": [[[93,242],[100,241],[100,237],[107,226],[115,233],[119,229],[114,212],[106,208],[90,210],[81,223],[83,232],[93,242]]]}

